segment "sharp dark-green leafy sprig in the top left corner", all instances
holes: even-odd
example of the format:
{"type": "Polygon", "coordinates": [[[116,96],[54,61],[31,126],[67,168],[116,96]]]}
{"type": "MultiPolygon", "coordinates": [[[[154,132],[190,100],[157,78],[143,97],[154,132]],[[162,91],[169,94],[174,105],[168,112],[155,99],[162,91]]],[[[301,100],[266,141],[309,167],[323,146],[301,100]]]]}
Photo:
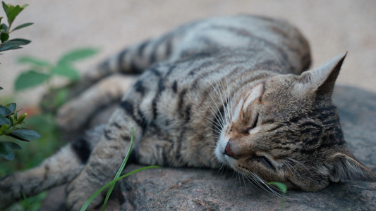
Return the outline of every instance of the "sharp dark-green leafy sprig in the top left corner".
{"type": "MultiPolygon", "coordinates": [[[[32,25],[33,23],[23,23],[21,25],[18,25],[13,30],[11,30],[11,26],[13,24],[13,21],[17,17],[17,15],[23,11],[24,8],[28,6],[28,4],[25,4],[23,6],[13,6],[11,4],[5,4],[4,1],[2,2],[4,12],[6,13],[6,18],[8,19],[8,25],[5,23],[2,23],[0,25],[0,51],[8,51],[8,50],[14,50],[14,49],[21,49],[20,46],[24,46],[27,44],[30,44],[30,40],[28,39],[11,39],[9,40],[9,34],[11,32],[14,32],[16,30],[20,30],[24,27],[28,27],[32,25]]],[[[0,17],[0,23],[3,17],[0,17]]]]}

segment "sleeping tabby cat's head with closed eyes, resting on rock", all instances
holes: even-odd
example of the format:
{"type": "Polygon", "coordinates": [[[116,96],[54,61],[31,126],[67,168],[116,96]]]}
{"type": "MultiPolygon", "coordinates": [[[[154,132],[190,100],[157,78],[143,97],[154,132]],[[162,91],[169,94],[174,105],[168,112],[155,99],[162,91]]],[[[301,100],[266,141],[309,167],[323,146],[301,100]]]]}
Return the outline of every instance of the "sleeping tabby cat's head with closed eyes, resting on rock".
{"type": "Polygon", "coordinates": [[[301,75],[255,85],[232,110],[215,153],[251,179],[320,191],[329,182],[376,181],[348,150],[332,93],[346,54],[301,75]]]}

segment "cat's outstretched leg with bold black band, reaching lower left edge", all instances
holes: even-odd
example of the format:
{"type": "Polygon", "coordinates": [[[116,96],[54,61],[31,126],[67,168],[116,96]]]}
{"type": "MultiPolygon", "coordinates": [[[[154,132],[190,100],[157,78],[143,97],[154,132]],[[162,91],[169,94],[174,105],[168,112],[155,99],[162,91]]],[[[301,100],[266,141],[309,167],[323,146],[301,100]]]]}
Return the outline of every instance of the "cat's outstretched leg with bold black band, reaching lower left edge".
{"type": "Polygon", "coordinates": [[[66,184],[83,170],[102,135],[104,126],[87,132],[77,141],[72,141],[41,165],[25,171],[11,174],[0,179],[0,209],[4,209],[25,196],[33,196],[54,186],[66,184]]]}

